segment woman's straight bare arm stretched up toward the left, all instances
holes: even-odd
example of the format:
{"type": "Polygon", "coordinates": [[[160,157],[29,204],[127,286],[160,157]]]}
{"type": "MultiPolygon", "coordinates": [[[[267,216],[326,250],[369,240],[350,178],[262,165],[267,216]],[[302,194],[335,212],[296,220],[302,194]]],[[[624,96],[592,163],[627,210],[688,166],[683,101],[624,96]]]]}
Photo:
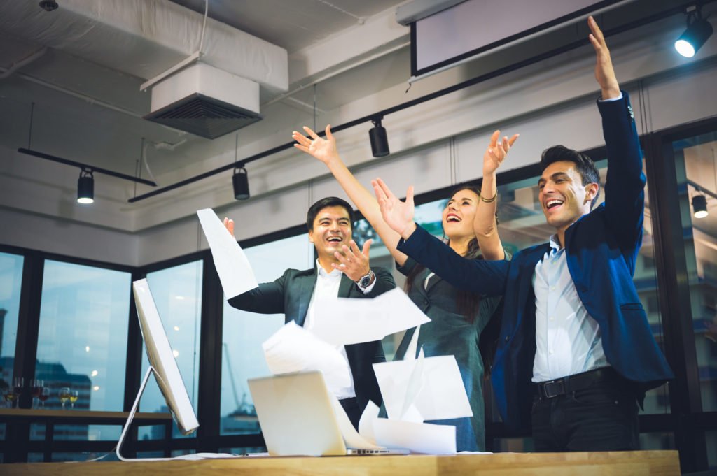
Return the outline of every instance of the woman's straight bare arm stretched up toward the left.
{"type": "Polygon", "coordinates": [[[326,164],[328,170],[331,171],[333,177],[336,178],[343,191],[348,195],[348,198],[351,198],[353,204],[359,208],[364,218],[369,220],[371,226],[379,234],[381,241],[384,242],[391,256],[402,266],[406,262],[407,256],[396,248],[401,237],[394,230],[391,230],[389,225],[386,225],[386,222],[381,218],[379,203],[376,202],[369,190],[366,190],[364,185],[361,185],[359,180],[356,180],[351,170],[348,170],[348,167],[344,165],[338,155],[338,150],[336,150],[336,139],[331,134],[331,125],[326,126],[326,139],[319,137],[309,127],[304,127],[304,130],[309,137],[296,131],[291,135],[297,142],[294,147],[326,164]]]}

